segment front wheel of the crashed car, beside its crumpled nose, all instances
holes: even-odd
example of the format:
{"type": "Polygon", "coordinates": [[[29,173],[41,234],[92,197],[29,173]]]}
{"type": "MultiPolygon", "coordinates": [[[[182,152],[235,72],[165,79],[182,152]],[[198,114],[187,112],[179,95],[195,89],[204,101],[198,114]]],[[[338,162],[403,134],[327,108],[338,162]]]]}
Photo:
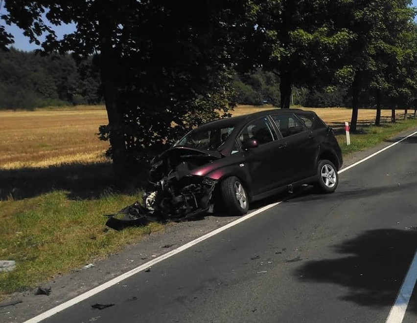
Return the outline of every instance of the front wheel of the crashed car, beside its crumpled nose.
{"type": "Polygon", "coordinates": [[[248,194],[236,176],[225,178],[220,183],[224,206],[232,215],[244,215],[249,210],[248,194]]]}

